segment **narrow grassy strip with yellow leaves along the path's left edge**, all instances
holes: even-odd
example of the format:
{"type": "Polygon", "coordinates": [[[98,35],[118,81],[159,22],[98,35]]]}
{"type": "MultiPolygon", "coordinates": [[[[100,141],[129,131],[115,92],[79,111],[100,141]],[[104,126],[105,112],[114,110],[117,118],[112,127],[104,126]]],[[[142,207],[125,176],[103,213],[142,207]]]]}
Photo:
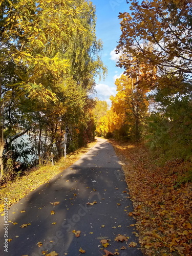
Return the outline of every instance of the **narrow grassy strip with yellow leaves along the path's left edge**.
{"type": "Polygon", "coordinates": [[[97,141],[89,143],[86,147],[81,147],[67,157],[62,157],[54,166],[47,164],[26,172],[24,176],[18,177],[12,182],[8,182],[0,187],[0,212],[4,209],[4,198],[8,198],[8,207],[27,196],[31,191],[40,185],[48,182],[57,174],[76,162],[82,155],[87,153],[97,141]]]}

